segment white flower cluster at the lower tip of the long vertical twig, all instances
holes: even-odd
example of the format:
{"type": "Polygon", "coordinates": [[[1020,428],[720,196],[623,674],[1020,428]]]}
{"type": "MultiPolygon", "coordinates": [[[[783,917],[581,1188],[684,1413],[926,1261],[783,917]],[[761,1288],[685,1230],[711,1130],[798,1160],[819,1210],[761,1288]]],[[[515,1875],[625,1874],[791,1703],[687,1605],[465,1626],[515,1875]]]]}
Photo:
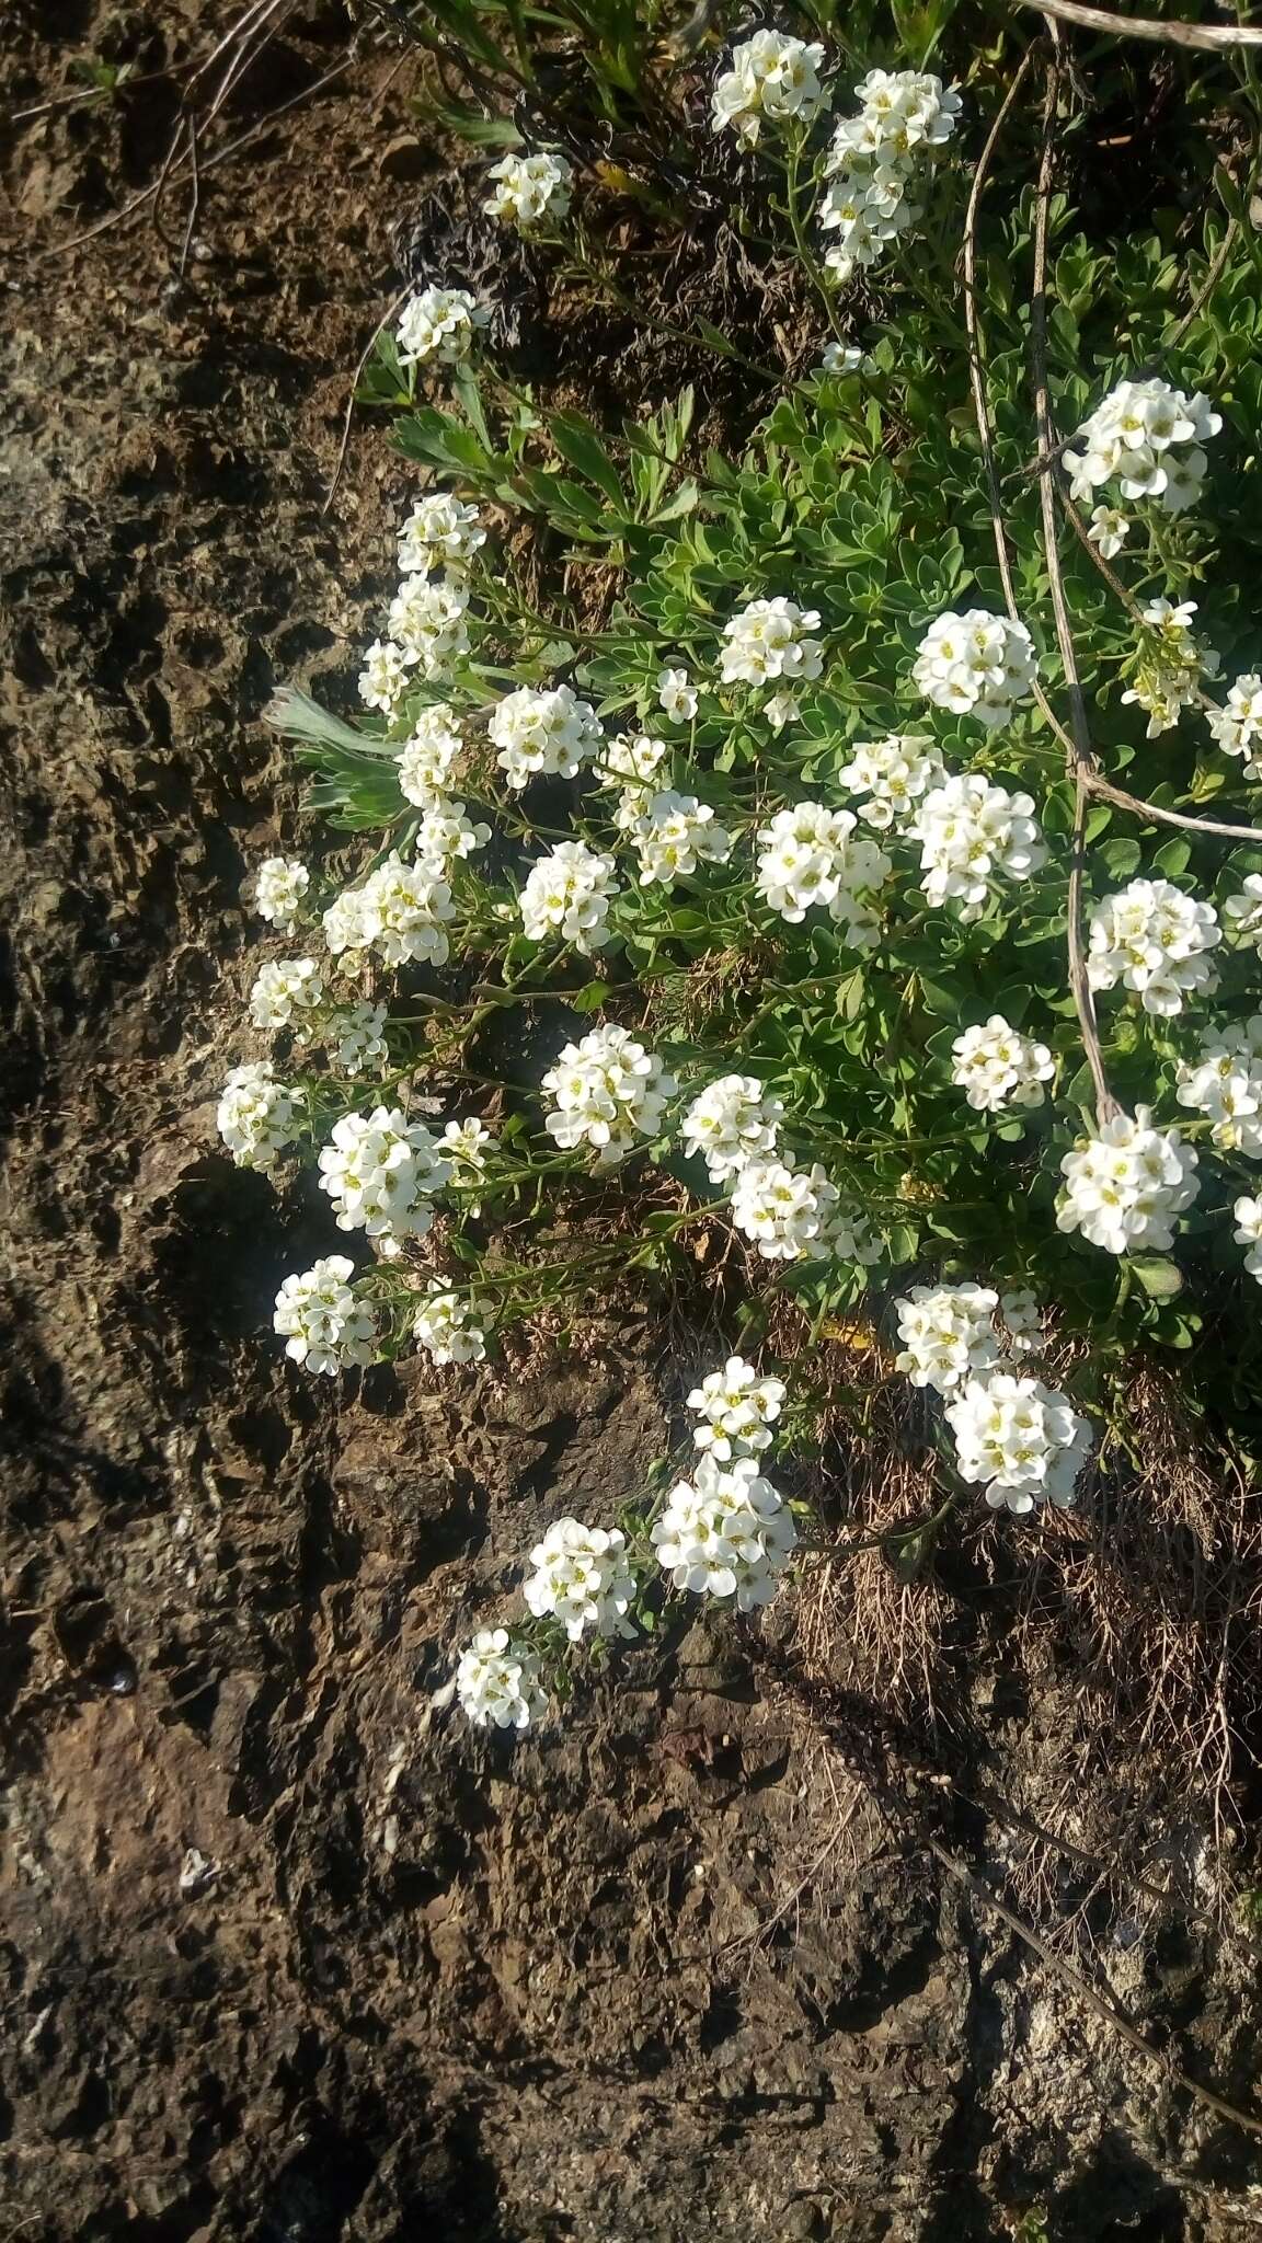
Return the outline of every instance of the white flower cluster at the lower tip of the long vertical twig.
{"type": "Polygon", "coordinates": [[[1055,1227],[1082,1231],[1107,1254],[1132,1247],[1161,1252],[1174,1240],[1172,1216],[1197,1198],[1197,1155],[1179,1130],[1152,1128],[1147,1106],[1114,1115],[1098,1135],[1078,1142],[1060,1162],[1064,1189],[1055,1227]]]}

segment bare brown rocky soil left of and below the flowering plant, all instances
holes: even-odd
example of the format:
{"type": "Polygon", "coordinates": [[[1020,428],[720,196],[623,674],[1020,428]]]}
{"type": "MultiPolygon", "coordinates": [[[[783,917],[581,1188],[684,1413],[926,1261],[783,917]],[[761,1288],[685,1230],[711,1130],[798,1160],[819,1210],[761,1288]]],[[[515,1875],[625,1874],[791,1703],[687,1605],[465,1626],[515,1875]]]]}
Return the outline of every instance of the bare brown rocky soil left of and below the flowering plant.
{"type": "MultiPolygon", "coordinates": [[[[344,36],[290,25],[240,130],[344,36]]],[[[204,40],[193,0],[29,4],[7,103],[65,92],[72,54],[204,40]]],[[[635,1485],[692,1359],[611,1328],[512,1386],[339,1395],[267,1344],[328,1234],[227,1166],[211,1101],[240,881],[296,834],[258,713],[278,677],[344,691],[406,491],[359,431],[321,514],[429,177],[395,61],[207,175],[175,285],[177,184],[175,251],[141,220],[54,253],[155,177],[166,81],[9,135],[0,2234],[1033,2243],[1044,2205],[1067,2243],[1237,2236],[1249,2135],[943,1877],[880,1709],[804,1705],[775,1624],[757,1658],[694,1628],[512,1754],[433,1711],[510,1552],[635,1485]]],[[[1064,1824],[1037,1770],[1078,1720],[1069,1662],[1015,1702],[988,1655],[961,1790],[1064,1824]]],[[[943,1808],[923,1754],[912,1792],[1002,1891],[1010,1828],[943,1808]]],[[[1170,1839],[1192,1898],[1208,1835],[1170,1839]]],[[[1089,1884],[1049,1873],[1046,1913],[1089,1884]]],[[[1091,1933],[1082,1967],[1249,2104],[1255,1947],[1138,1898],[1091,1933]]]]}

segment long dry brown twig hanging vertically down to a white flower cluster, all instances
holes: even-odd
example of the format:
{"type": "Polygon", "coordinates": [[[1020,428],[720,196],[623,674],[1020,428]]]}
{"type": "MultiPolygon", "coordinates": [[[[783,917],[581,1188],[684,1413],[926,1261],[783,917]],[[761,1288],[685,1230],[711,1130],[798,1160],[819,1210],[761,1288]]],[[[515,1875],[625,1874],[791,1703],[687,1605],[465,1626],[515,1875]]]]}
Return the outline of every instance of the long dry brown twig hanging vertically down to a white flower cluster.
{"type": "MultiPolygon", "coordinates": [[[[1055,29],[1053,29],[1055,38],[1055,29]]],[[[1035,419],[1040,453],[1046,453],[1055,444],[1055,426],[1051,419],[1051,399],[1046,388],[1046,215],[1051,202],[1051,166],[1055,155],[1055,99],[1060,92],[1060,58],[1053,54],[1046,72],[1046,96],[1042,110],[1042,148],[1037,166],[1037,188],[1035,188],[1035,285],[1031,296],[1031,357],[1035,377],[1035,419]]],[[[1069,606],[1064,599],[1064,579],[1060,574],[1060,552],[1058,552],[1058,527],[1055,527],[1055,484],[1051,476],[1040,478],[1040,507],[1042,507],[1042,543],[1046,552],[1046,576],[1051,588],[1051,608],[1055,617],[1055,641],[1060,646],[1060,662],[1064,668],[1064,686],[1069,693],[1069,724],[1071,742],[1067,754],[1067,765],[1073,776],[1073,837],[1071,837],[1071,864],[1069,864],[1069,902],[1067,902],[1067,944],[1069,944],[1069,989],[1073,996],[1073,1009],[1078,1014],[1078,1027],[1082,1034],[1082,1050],[1087,1052],[1087,1065],[1091,1068],[1091,1081],[1096,1086],[1096,1115],[1100,1128],[1105,1128],[1121,1106],[1109,1090],[1109,1079],[1105,1074],[1105,1054],[1100,1050],[1100,1030],[1096,1023],[1096,994],[1087,978],[1087,956],[1082,949],[1082,888],[1087,873],[1087,810],[1091,803],[1091,774],[1096,769],[1096,751],[1091,747],[1091,727],[1087,720],[1087,700],[1082,695],[1082,682],[1078,677],[1078,655],[1073,650],[1073,630],[1069,624],[1069,606]]]]}

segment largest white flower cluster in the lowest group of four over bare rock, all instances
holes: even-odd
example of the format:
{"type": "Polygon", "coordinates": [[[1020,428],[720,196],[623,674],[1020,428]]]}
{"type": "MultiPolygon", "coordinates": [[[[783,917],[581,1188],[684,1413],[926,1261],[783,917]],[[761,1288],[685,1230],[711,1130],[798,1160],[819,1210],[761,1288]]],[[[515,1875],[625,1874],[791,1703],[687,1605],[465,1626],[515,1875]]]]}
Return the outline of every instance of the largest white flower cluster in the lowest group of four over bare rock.
{"type": "Polygon", "coordinates": [[[703,1456],[692,1480],[678,1480],[653,1525],[653,1548],[674,1588],[694,1597],[734,1597],[741,1613],[770,1604],[793,1557],[797,1527],[757,1458],[719,1465],[703,1456]]]}

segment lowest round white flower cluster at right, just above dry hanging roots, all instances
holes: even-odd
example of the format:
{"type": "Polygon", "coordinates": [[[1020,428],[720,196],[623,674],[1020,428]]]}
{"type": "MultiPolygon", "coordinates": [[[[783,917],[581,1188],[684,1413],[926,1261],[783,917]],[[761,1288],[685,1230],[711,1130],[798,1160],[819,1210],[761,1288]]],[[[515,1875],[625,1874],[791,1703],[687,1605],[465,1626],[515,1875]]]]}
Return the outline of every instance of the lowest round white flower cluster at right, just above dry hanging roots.
{"type": "Polygon", "coordinates": [[[993,1510],[1024,1514],[1035,1503],[1069,1510],[1091,1447],[1091,1424],[1067,1395],[1042,1379],[999,1370],[988,1379],[968,1379],[959,1400],[948,1402],[945,1418],[961,1480],[981,1480],[993,1510]]]}

